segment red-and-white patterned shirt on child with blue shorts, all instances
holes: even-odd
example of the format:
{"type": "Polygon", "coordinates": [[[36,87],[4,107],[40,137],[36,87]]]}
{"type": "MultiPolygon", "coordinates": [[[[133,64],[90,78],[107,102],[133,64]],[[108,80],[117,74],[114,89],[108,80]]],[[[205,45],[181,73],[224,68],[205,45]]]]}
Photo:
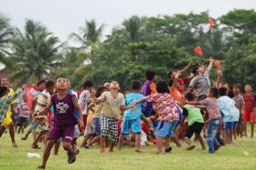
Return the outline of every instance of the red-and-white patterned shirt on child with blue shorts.
{"type": "Polygon", "coordinates": [[[153,94],[145,97],[146,102],[153,102],[161,122],[178,120],[179,115],[173,97],[169,94],[153,94]]]}

